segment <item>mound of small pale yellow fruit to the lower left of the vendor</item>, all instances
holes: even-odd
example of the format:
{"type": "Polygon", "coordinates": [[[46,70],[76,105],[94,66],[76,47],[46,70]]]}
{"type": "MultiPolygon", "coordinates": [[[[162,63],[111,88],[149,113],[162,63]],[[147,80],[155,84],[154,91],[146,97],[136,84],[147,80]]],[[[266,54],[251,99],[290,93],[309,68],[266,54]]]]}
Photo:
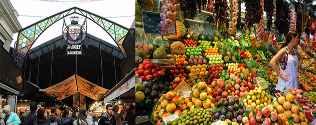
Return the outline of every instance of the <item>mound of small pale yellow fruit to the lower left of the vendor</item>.
{"type": "Polygon", "coordinates": [[[270,104],[271,99],[269,98],[269,94],[266,93],[262,87],[254,88],[249,90],[246,97],[243,98],[243,103],[245,106],[252,106],[254,108],[258,107],[265,107],[270,104]]]}

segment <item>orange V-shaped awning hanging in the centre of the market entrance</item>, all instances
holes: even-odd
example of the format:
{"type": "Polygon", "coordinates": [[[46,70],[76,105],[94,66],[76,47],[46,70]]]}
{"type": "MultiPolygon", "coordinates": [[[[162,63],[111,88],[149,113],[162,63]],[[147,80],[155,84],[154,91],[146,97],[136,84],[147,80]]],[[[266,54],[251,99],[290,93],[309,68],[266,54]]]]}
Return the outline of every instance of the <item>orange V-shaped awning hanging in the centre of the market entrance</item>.
{"type": "Polygon", "coordinates": [[[100,100],[107,92],[107,89],[93,84],[77,74],[44,90],[58,100],[64,99],[77,91],[94,100],[100,100]]]}

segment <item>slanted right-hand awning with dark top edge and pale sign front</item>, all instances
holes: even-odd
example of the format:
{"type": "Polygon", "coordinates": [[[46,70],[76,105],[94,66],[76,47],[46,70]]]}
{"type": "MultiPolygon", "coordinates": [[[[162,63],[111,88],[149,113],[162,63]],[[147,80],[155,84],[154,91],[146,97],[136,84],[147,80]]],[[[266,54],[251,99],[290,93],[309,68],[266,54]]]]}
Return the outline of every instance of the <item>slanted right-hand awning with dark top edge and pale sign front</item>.
{"type": "Polygon", "coordinates": [[[125,93],[135,86],[135,68],[131,70],[118,84],[104,95],[104,102],[108,102],[115,97],[125,93]]]}

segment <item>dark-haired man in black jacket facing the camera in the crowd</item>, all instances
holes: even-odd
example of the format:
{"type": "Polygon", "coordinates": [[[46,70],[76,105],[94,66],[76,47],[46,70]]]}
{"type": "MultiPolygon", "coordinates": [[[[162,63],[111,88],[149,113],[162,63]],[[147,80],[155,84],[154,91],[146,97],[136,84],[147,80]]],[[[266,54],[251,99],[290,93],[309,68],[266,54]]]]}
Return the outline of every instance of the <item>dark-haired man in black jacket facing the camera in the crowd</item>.
{"type": "Polygon", "coordinates": [[[106,113],[104,113],[98,125],[115,125],[115,117],[112,115],[113,106],[111,104],[106,105],[106,113]]]}

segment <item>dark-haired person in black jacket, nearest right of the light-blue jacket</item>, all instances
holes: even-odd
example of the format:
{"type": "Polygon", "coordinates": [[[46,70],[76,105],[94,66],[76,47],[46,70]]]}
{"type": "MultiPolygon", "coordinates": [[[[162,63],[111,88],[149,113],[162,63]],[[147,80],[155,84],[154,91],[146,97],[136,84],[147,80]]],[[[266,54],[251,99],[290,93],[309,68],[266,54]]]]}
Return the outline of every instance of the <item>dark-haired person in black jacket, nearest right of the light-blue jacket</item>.
{"type": "Polygon", "coordinates": [[[31,113],[27,115],[27,117],[24,120],[24,125],[37,125],[37,115],[35,114],[35,111],[37,109],[37,103],[31,102],[30,103],[30,109],[31,113]]]}

